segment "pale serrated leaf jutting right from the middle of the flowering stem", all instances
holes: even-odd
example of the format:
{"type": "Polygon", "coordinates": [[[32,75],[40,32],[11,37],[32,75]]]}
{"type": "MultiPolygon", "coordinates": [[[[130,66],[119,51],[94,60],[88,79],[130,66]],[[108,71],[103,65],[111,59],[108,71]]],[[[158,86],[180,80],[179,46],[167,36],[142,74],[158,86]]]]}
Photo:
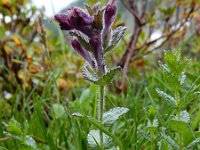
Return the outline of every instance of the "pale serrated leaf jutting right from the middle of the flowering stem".
{"type": "Polygon", "coordinates": [[[103,114],[103,124],[106,126],[111,126],[120,116],[124,115],[129,111],[128,108],[116,107],[110,109],[109,111],[103,114]]]}

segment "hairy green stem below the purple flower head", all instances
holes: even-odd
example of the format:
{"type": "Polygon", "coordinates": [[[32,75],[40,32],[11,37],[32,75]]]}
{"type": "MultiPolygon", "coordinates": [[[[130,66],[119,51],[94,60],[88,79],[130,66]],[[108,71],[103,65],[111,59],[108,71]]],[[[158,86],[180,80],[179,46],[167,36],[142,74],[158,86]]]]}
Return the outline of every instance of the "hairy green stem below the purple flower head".
{"type": "MultiPolygon", "coordinates": [[[[98,120],[103,125],[103,113],[104,113],[104,86],[99,86],[99,100],[98,100],[98,120]]],[[[103,148],[103,132],[100,132],[100,146],[103,148]]]]}

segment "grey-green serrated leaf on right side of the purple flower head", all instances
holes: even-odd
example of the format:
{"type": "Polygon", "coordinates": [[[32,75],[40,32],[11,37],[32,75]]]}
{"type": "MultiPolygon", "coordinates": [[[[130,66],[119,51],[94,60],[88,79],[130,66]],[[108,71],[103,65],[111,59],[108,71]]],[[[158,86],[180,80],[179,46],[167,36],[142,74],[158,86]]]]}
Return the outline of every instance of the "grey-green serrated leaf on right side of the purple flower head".
{"type": "Polygon", "coordinates": [[[119,43],[119,41],[121,40],[123,34],[125,33],[127,27],[125,26],[119,26],[117,27],[112,34],[112,38],[111,38],[111,44],[109,47],[107,47],[106,49],[104,49],[104,53],[109,52],[110,50],[112,50],[115,46],[117,46],[117,44],[119,43]]]}

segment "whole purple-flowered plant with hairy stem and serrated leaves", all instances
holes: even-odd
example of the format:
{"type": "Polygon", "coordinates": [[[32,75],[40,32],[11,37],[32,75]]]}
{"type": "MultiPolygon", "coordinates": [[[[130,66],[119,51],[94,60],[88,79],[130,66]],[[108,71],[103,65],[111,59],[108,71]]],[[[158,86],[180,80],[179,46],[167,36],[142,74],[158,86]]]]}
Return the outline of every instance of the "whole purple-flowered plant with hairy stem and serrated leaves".
{"type": "MultiPolygon", "coordinates": [[[[117,15],[116,3],[116,0],[110,0],[103,8],[100,7],[100,3],[93,6],[85,5],[85,10],[72,7],[66,13],[54,17],[62,30],[70,32],[73,49],[85,59],[83,66],[85,78],[99,86],[97,122],[104,128],[128,111],[127,108],[117,107],[104,112],[104,88],[120,70],[120,67],[108,68],[105,55],[118,44],[126,30],[124,26],[112,29],[117,15]]],[[[75,115],[84,116],[77,113],[75,115]]],[[[98,146],[108,148],[112,145],[110,144],[112,140],[102,130],[90,131],[87,138],[92,148],[98,146]]]]}

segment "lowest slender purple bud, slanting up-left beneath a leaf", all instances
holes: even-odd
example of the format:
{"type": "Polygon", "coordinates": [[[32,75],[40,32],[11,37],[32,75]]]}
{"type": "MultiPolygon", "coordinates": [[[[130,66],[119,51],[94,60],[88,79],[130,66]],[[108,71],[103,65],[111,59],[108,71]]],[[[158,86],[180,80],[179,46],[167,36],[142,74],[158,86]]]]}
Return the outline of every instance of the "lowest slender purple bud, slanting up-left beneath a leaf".
{"type": "Polygon", "coordinates": [[[89,62],[91,66],[93,66],[92,58],[90,57],[89,52],[81,45],[77,39],[72,39],[71,45],[79,55],[81,55],[87,62],[89,62]]]}

